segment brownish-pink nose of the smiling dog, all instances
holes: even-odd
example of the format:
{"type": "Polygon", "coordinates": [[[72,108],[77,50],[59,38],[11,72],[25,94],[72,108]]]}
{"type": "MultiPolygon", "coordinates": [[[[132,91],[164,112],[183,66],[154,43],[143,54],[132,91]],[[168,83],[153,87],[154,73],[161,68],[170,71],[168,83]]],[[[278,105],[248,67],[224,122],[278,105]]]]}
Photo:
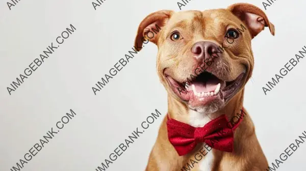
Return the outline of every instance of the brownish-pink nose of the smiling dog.
{"type": "Polygon", "coordinates": [[[210,55],[215,53],[217,50],[218,46],[209,41],[197,42],[191,48],[192,55],[197,61],[211,58],[210,55]]]}

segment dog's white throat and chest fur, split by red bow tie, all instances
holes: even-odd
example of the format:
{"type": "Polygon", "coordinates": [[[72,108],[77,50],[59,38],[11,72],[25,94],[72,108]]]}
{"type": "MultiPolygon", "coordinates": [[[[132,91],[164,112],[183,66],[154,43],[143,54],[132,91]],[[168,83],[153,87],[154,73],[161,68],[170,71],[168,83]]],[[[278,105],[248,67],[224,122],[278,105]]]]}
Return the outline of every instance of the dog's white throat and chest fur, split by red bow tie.
{"type": "MultiPolygon", "coordinates": [[[[212,119],[205,113],[200,113],[194,110],[189,110],[189,125],[193,127],[203,127],[205,124],[210,122],[212,119]]],[[[204,147],[204,144],[203,144],[204,147]]],[[[200,171],[211,171],[214,160],[214,154],[212,151],[208,152],[205,158],[203,158],[199,164],[200,171]]]]}

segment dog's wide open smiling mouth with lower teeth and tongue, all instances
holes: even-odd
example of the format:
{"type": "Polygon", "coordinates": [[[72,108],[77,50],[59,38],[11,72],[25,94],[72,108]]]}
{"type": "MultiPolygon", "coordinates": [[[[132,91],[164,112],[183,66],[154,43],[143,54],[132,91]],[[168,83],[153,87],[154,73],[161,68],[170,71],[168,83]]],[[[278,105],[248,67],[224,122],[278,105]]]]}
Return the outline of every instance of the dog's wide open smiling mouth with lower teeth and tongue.
{"type": "Polygon", "coordinates": [[[192,106],[206,105],[216,99],[226,101],[241,88],[245,72],[233,81],[223,81],[209,72],[202,72],[193,80],[178,82],[165,75],[173,92],[192,106]]]}

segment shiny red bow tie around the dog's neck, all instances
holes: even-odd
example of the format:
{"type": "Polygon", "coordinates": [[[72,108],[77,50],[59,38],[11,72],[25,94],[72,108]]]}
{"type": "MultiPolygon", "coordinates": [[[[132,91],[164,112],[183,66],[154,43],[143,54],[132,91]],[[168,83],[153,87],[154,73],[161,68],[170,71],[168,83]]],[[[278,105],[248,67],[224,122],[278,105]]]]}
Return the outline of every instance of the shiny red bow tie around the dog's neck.
{"type": "Polygon", "coordinates": [[[191,125],[169,119],[167,121],[168,137],[180,156],[188,154],[198,143],[206,143],[211,148],[233,152],[234,134],[233,131],[242,121],[239,118],[237,124],[232,126],[225,115],[210,121],[203,127],[195,128],[191,125]]]}

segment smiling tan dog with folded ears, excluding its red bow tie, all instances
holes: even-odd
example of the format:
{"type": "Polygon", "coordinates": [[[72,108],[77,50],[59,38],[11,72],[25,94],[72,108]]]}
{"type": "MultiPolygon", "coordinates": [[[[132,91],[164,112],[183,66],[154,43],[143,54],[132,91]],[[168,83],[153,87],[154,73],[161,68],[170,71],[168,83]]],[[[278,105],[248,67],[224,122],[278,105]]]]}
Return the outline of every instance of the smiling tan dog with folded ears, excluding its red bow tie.
{"type": "MultiPolygon", "coordinates": [[[[251,40],[265,26],[274,35],[274,25],[265,13],[244,3],[207,11],[158,11],[140,23],[135,46],[142,47],[142,37],[156,24],[161,30],[149,41],[158,46],[157,71],[168,92],[168,117],[203,127],[222,114],[231,119],[240,113],[244,85],[251,77],[254,64],[251,40]],[[210,54],[220,49],[223,53],[218,53],[210,67],[185,88],[187,78],[195,75],[194,71],[211,58],[210,54]]],[[[268,166],[249,115],[234,131],[232,153],[215,149],[203,152],[208,150],[207,146],[199,152],[204,144],[198,144],[192,152],[179,156],[169,142],[166,122],[167,117],[146,170],[245,171],[265,170],[268,166]],[[191,160],[197,162],[190,164],[191,160]]]]}

